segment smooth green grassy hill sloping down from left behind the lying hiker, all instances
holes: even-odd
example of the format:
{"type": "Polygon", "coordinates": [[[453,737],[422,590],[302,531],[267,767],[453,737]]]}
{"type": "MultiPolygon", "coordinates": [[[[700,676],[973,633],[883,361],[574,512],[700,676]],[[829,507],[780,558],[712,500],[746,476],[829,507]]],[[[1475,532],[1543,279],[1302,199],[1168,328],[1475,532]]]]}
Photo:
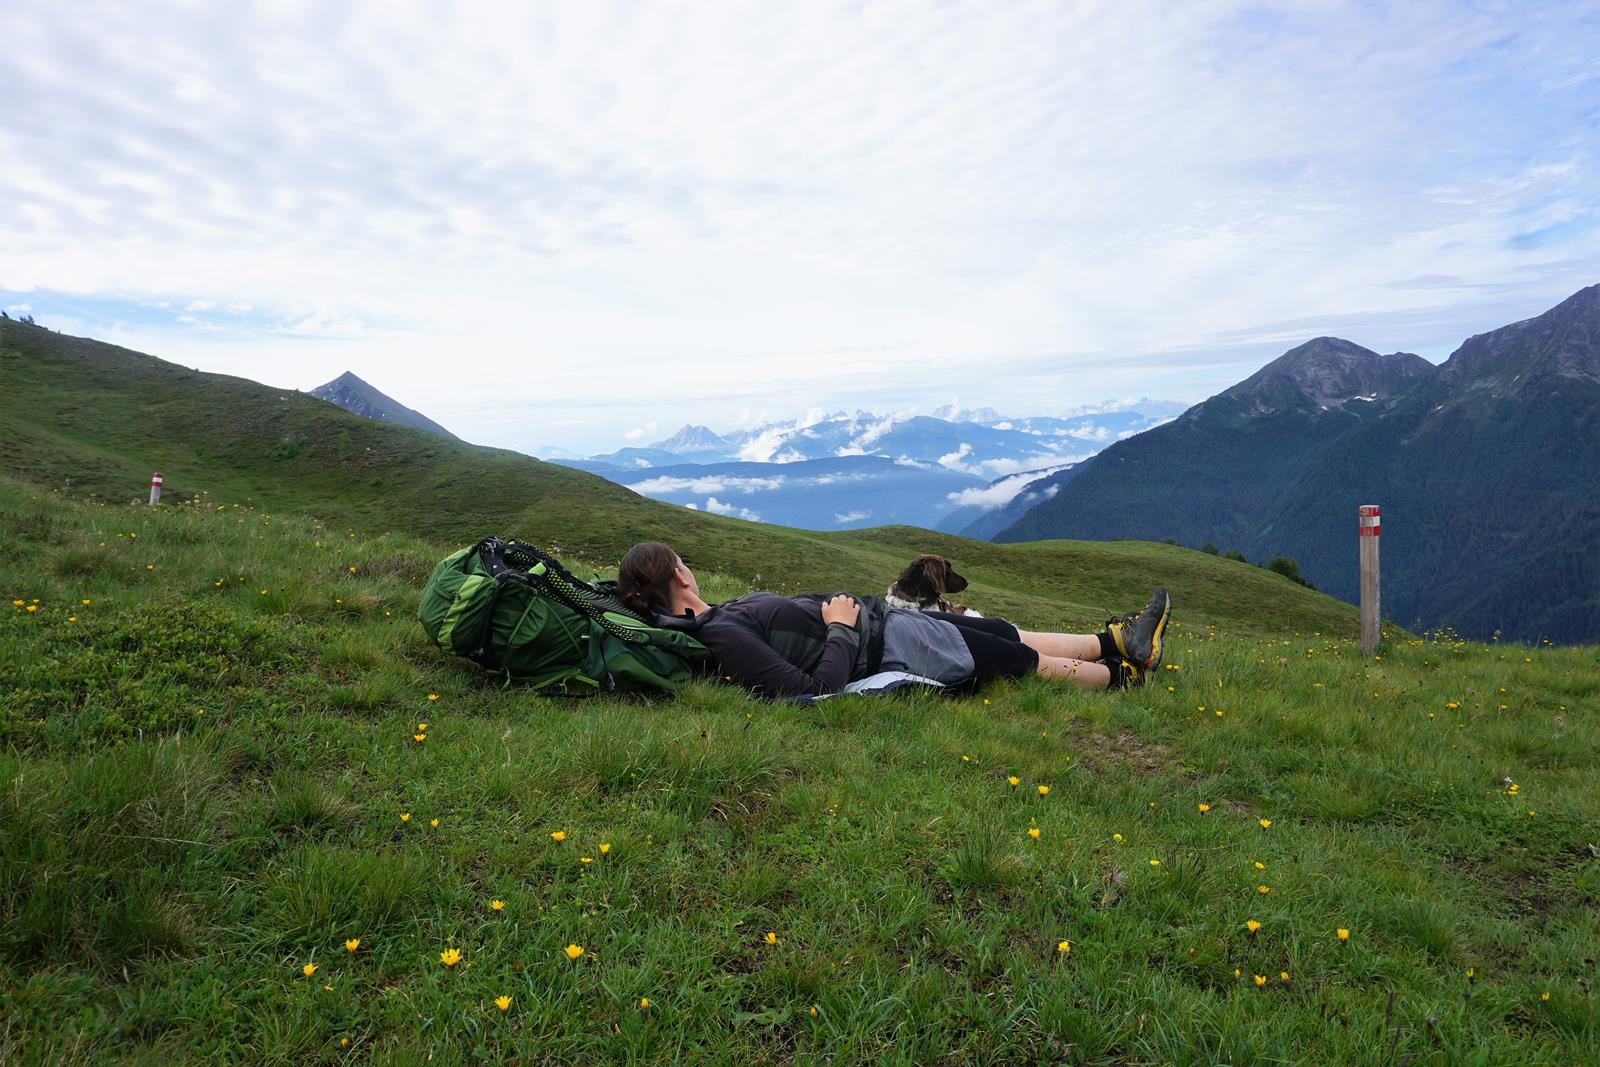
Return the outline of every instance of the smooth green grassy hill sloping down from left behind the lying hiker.
{"type": "Polygon", "coordinates": [[[1330,597],[1246,565],[1141,542],[994,545],[914,528],[837,534],[746,523],[637,496],[579,470],[352,416],[304,394],[202,374],[115,346],[0,320],[0,470],[112,502],[210,493],[360,533],[467,544],[488,533],[594,566],[669,541],[744,589],[882,592],[917,553],[957,560],[966,600],[1038,629],[1085,627],[1166,584],[1192,622],[1355,630],[1330,597]]]}

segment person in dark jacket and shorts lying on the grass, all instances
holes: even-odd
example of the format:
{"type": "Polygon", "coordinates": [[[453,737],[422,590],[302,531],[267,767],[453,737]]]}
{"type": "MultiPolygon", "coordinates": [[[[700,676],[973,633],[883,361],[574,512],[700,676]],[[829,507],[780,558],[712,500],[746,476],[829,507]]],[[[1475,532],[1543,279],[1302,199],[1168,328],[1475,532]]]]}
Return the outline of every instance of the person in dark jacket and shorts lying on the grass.
{"type": "Polygon", "coordinates": [[[627,550],[618,593],[646,619],[694,621],[723,677],[765,697],[838,693],[882,670],[944,685],[1038,673],[1085,689],[1136,686],[1162,662],[1171,614],[1165,589],[1099,633],[1032,633],[1003,619],[891,608],[851,593],[746,593],[709,605],[694,571],[659,541],[627,550]]]}

